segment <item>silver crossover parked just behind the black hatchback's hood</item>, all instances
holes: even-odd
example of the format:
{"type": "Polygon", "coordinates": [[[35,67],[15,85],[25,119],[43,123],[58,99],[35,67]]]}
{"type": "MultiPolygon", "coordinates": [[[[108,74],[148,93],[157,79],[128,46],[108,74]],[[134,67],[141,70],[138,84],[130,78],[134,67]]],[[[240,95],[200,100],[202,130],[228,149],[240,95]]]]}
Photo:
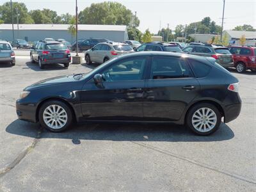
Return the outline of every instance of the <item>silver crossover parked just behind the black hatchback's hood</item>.
{"type": "Polygon", "coordinates": [[[92,62],[104,63],[111,58],[114,58],[120,54],[127,54],[134,52],[132,47],[127,44],[121,43],[100,43],[84,52],[84,58],[87,64],[92,62]]]}

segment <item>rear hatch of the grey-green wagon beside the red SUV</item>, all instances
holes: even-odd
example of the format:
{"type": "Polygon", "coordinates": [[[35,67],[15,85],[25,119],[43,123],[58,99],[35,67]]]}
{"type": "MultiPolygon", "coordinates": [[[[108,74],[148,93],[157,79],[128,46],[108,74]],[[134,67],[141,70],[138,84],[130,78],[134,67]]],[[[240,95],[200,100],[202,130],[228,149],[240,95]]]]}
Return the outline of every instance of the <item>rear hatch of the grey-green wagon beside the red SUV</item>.
{"type": "Polygon", "coordinates": [[[228,51],[227,47],[214,48],[214,51],[216,52],[217,63],[228,64],[234,62],[232,54],[228,51]]]}

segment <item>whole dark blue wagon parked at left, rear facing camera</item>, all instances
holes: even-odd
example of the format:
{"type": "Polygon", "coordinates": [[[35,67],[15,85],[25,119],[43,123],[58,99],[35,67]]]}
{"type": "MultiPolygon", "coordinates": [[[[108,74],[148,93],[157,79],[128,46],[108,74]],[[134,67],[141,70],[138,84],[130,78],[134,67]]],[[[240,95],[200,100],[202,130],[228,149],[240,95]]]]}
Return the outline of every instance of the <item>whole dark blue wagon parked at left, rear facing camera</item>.
{"type": "Polygon", "coordinates": [[[30,51],[31,63],[38,62],[40,68],[52,63],[62,63],[68,68],[71,61],[67,45],[56,41],[39,41],[30,51]]]}

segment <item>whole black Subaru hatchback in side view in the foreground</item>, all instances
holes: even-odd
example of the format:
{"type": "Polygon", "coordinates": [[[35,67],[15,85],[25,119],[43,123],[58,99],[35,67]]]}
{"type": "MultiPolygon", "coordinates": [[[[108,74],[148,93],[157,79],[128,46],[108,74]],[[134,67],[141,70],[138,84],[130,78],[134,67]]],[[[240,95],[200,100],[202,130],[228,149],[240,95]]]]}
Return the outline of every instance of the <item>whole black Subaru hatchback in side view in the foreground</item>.
{"type": "Polygon", "coordinates": [[[20,93],[17,115],[60,132],[72,122],[172,122],[207,135],[241,111],[238,80],[213,58],[170,52],[118,56],[88,74],[46,79],[20,93]]]}

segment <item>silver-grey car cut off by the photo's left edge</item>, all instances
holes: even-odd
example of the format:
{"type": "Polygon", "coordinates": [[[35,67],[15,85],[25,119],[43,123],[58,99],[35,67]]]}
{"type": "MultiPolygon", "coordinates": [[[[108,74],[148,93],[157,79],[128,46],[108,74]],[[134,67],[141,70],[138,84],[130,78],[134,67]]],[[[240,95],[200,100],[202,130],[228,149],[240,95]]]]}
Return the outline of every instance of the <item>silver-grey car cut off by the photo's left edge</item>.
{"type": "Polygon", "coordinates": [[[6,41],[0,41],[0,62],[10,62],[15,65],[15,53],[12,45],[6,41]]]}

